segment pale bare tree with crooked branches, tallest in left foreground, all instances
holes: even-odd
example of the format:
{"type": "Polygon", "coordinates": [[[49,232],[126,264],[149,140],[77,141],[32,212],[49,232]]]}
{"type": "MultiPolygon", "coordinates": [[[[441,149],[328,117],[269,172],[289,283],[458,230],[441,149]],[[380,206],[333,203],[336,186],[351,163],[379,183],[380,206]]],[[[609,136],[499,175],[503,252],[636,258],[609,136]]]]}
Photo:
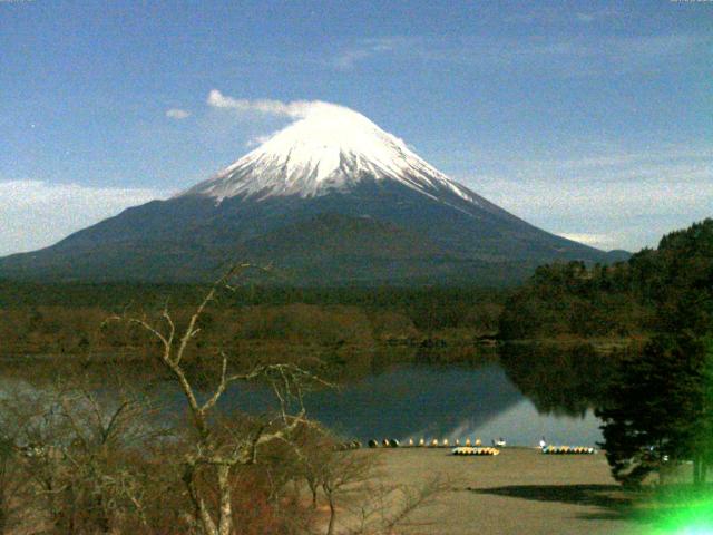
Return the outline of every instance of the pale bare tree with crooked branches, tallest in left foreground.
{"type": "Polygon", "coordinates": [[[183,481],[197,524],[206,535],[234,533],[231,478],[235,468],[258,463],[261,450],[266,445],[275,441],[290,444],[300,427],[311,426],[312,422],[305,416],[303,392],[314,385],[328,385],[291,363],[258,364],[246,372],[235,373],[229,370],[228,358],[222,351],[217,353],[218,370],[207,395],[192,379],[186,367],[186,354],[201,332],[198,323],[202,315],[216,300],[218,292],[231,290],[231,281],[251,268],[250,264],[236,265],[216,281],[184,329],[178,329],[167,307],[156,321],[146,317],[110,319],[127,321],[154,337],[160,344],[156,359],[180,389],[194,431],[191,447],[183,458],[183,481]],[[276,414],[254,421],[250,429],[223,426],[217,415],[217,403],[226,390],[238,381],[257,380],[267,382],[272,388],[279,402],[276,414]],[[211,499],[213,495],[216,496],[215,505],[211,499]]]}

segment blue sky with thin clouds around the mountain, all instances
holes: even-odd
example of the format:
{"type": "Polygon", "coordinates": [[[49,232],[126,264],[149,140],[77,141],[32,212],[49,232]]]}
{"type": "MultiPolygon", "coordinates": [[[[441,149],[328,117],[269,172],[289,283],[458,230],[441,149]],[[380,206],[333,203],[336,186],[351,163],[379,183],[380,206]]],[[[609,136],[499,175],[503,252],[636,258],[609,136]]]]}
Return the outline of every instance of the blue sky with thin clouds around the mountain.
{"type": "Polygon", "coordinates": [[[603,249],[713,216],[712,1],[0,0],[0,254],[207,178],[287,123],[264,99],[603,249]]]}

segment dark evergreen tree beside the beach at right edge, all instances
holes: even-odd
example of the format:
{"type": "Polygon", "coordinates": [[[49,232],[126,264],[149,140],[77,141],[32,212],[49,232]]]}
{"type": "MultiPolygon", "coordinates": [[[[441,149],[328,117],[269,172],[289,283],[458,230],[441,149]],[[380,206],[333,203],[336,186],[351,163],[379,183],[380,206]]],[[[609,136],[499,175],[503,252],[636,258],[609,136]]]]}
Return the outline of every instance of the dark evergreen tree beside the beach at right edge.
{"type": "Polygon", "coordinates": [[[692,335],[661,334],[624,359],[609,400],[597,411],[614,477],[637,486],[666,463],[692,459],[696,483],[711,459],[713,358],[692,335]]]}

